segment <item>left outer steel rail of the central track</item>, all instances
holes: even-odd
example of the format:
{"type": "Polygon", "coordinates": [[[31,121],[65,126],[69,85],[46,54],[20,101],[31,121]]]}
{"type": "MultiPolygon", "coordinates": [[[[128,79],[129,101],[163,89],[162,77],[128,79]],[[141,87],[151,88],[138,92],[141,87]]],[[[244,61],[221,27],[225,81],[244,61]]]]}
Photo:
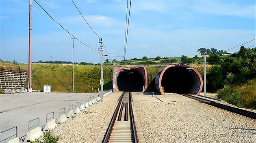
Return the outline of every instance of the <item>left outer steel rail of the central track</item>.
{"type": "Polygon", "coordinates": [[[102,141],[102,143],[107,143],[108,142],[108,139],[110,137],[111,130],[112,130],[113,126],[114,126],[114,122],[115,122],[115,120],[117,118],[118,110],[119,110],[120,105],[122,103],[122,99],[124,97],[124,94],[125,94],[125,92],[122,93],[121,98],[120,98],[120,100],[119,100],[119,102],[117,104],[117,107],[115,108],[115,112],[114,112],[114,114],[113,114],[113,116],[111,118],[110,124],[108,125],[108,129],[106,131],[106,134],[104,136],[104,140],[102,141]]]}

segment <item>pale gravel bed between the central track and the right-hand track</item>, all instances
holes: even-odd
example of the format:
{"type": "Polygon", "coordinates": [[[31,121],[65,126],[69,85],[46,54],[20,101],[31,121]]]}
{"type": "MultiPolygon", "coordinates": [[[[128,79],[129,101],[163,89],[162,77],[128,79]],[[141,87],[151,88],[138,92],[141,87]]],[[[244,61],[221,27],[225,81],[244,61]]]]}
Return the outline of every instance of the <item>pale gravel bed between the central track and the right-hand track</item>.
{"type": "Polygon", "coordinates": [[[147,143],[256,143],[256,121],[198,101],[133,105],[147,143]]]}

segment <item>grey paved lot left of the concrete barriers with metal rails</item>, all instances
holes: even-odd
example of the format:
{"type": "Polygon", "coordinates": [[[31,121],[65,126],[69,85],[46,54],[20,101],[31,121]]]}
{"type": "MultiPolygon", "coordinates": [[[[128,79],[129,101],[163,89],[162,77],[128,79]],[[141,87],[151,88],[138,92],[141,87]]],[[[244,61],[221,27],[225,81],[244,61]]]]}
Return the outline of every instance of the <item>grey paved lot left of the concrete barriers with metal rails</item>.
{"type": "Polygon", "coordinates": [[[18,137],[22,137],[26,135],[29,120],[39,117],[40,126],[43,126],[46,123],[46,114],[54,111],[57,119],[60,108],[65,107],[67,114],[68,105],[73,104],[74,109],[76,102],[92,96],[98,97],[98,93],[0,94],[0,131],[17,126],[18,137]]]}

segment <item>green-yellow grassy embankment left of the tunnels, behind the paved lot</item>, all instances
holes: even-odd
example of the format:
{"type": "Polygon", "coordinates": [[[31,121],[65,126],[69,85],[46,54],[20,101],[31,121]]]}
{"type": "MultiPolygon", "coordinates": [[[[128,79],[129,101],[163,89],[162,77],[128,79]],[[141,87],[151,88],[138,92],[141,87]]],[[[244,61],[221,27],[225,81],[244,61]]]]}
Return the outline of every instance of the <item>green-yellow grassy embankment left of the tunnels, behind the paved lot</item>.
{"type": "MultiPolygon", "coordinates": [[[[27,64],[0,63],[0,66],[28,69],[27,64]]],[[[112,87],[112,66],[103,67],[104,90],[112,87]]],[[[27,88],[27,82],[25,88],[27,88]]],[[[43,85],[50,85],[52,92],[72,92],[72,65],[32,64],[32,89],[43,91],[43,85]]],[[[100,66],[74,66],[74,92],[98,92],[100,88],[100,66]]]]}

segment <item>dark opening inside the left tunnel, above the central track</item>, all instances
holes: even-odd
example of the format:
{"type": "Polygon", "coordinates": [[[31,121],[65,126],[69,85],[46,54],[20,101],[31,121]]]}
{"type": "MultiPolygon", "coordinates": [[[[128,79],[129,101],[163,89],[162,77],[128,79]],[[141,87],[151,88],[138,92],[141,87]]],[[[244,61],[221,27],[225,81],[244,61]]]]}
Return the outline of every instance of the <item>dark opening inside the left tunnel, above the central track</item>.
{"type": "Polygon", "coordinates": [[[136,70],[123,70],[117,77],[119,91],[141,92],[144,86],[143,76],[136,70]]]}

